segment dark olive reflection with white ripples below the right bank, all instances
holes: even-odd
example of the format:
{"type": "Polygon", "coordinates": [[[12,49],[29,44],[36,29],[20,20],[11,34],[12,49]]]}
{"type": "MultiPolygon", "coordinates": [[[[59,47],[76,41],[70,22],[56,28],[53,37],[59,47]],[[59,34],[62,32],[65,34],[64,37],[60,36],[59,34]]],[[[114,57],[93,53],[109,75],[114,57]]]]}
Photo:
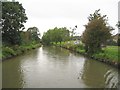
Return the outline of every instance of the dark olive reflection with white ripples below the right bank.
{"type": "Polygon", "coordinates": [[[116,88],[118,71],[95,60],[86,60],[81,78],[85,84],[93,88],[116,88]]]}

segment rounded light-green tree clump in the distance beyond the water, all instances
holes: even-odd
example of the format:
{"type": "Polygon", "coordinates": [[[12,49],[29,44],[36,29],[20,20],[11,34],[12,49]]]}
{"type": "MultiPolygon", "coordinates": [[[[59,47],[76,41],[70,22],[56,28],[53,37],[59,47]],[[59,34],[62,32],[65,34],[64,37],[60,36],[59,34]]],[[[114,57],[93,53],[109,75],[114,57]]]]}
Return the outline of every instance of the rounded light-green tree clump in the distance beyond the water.
{"type": "Polygon", "coordinates": [[[66,27],[49,29],[42,37],[42,42],[46,45],[50,45],[52,42],[57,43],[68,40],[70,40],[70,31],[66,27]]]}

